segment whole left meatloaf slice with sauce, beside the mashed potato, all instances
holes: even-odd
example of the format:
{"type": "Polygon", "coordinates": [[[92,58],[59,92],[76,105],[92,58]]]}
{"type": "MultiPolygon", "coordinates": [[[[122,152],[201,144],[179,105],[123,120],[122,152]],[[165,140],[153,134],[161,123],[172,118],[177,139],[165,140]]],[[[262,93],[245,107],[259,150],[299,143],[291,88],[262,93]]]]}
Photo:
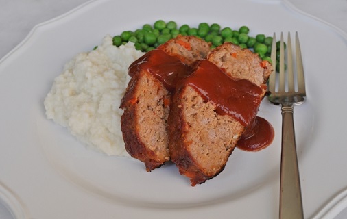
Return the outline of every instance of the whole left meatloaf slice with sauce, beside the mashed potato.
{"type": "Polygon", "coordinates": [[[121,131],[128,153],[151,171],[169,161],[167,118],[176,80],[190,73],[210,45],[192,36],[178,36],[136,60],[121,101],[121,131]]]}

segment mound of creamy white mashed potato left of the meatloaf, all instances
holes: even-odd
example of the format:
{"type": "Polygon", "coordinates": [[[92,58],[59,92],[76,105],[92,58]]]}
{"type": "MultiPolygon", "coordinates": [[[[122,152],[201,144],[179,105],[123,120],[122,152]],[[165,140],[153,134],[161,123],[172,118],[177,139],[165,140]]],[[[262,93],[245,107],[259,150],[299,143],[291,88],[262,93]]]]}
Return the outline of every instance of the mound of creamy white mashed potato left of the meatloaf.
{"type": "Polygon", "coordinates": [[[129,156],[119,104],[129,80],[128,66],[143,54],[132,42],[118,48],[106,36],[96,50],[76,55],[54,79],[45,98],[47,118],[107,155],[129,156]]]}

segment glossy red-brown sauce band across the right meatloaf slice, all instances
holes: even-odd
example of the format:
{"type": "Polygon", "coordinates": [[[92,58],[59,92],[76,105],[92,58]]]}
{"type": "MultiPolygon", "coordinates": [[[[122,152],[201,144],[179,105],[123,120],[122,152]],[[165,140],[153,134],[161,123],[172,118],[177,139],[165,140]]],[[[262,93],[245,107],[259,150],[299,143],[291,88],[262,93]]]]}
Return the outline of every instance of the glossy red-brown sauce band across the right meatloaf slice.
{"type": "Polygon", "coordinates": [[[248,127],[258,112],[263,90],[246,79],[228,77],[208,60],[200,60],[197,66],[179,86],[192,86],[206,102],[216,106],[217,114],[228,114],[248,127]]]}

